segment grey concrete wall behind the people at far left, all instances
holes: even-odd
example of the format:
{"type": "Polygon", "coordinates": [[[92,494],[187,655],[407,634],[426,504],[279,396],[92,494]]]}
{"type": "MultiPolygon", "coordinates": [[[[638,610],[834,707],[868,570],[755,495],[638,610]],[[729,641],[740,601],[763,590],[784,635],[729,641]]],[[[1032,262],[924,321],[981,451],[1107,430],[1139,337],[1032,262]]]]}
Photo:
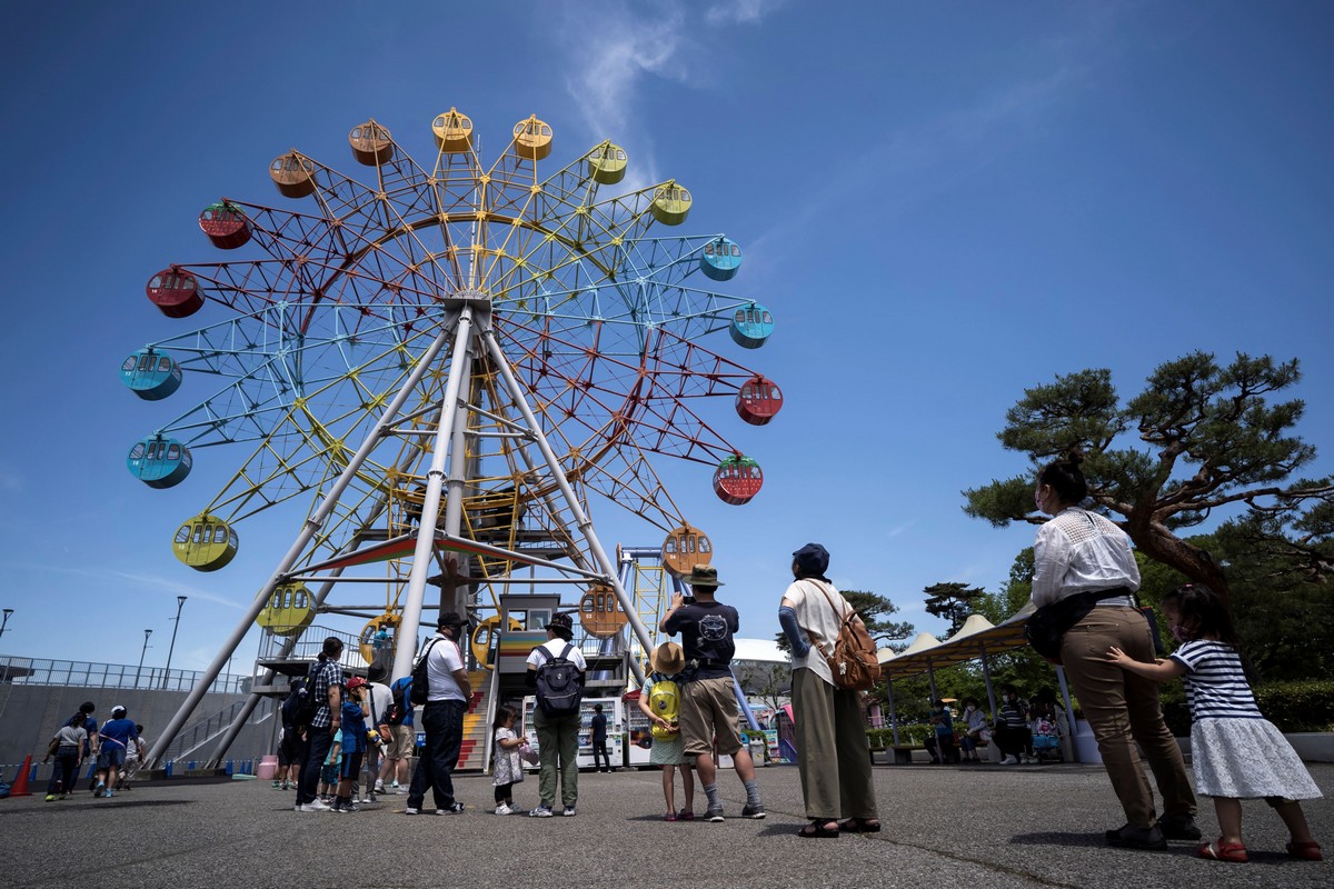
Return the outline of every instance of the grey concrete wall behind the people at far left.
{"type": "MultiPolygon", "coordinates": [[[[185,701],[187,692],[163,692],[148,689],[87,688],[76,685],[0,685],[0,764],[17,764],[32,754],[33,762],[45,756],[47,744],[60,725],[79,709],[84,701],[97,705],[93,717],[103,722],[111,718],[111,708],[120,704],[128,710],[128,718],[144,726],[144,736],[156,741],[176,709],[185,701]]],[[[229,708],[236,701],[244,701],[244,694],[205,694],[199,708],[185,722],[188,729],[196,720],[213,716],[229,708]]],[[[256,708],[252,724],[241,729],[228,750],[228,758],[257,760],[271,753],[273,720],[259,718],[261,708],[256,708]]],[[[216,744],[216,741],[213,742],[216,744]]],[[[204,745],[196,754],[205,758],[213,744],[204,745]]],[[[5,769],[5,777],[13,777],[13,769],[5,769]]],[[[45,774],[45,772],[43,772],[45,774]]]]}

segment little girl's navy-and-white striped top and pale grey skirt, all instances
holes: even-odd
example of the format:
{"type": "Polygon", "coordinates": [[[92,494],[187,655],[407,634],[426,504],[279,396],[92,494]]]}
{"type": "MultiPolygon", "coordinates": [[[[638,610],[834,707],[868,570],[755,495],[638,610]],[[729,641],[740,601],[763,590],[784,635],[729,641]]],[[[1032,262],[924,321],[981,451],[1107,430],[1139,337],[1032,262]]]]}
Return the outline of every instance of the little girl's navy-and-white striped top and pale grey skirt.
{"type": "Polygon", "coordinates": [[[1255,705],[1231,645],[1193,640],[1171,658],[1186,668],[1190,754],[1198,793],[1239,800],[1321,797],[1293,745],[1255,705]]]}

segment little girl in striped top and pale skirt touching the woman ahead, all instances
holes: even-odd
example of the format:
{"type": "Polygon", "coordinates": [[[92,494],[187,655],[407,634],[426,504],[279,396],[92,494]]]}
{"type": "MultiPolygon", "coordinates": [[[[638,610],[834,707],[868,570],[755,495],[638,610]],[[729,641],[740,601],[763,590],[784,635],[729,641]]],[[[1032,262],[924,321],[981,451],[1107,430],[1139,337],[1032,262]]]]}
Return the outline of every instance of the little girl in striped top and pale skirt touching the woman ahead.
{"type": "Polygon", "coordinates": [[[1291,833],[1287,854],[1321,861],[1298,800],[1322,794],[1287,738],[1266,720],[1242,668],[1227,604],[1202,584],[1163,597],[1173,636],[1182,642],[1169,660],[1134,661],[1113,646],[1109,660],[1131,673],[1165,682],[1182,677],[1190,705],[1190,753],[1195,789],[1214,797],[1222,836],[1199,846],[1202,858],[1249,861],[1242,842],[1242,800],[1263,798],[1291,833]]]}

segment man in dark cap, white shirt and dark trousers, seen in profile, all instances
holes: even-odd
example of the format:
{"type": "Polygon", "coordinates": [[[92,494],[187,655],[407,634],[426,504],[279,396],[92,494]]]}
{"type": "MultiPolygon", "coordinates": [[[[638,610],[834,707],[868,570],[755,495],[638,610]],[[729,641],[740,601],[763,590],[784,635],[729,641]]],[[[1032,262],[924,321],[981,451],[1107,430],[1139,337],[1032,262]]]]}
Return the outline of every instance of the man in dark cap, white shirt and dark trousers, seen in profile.
{"type": "Polygon", "coordinates": [[[472,682],[463,665],[462,638],[463,617],[458,612],[444,612],[436,622],[435,636],[426,644],[427,693],[422,709],[422,729],[426,732],[426,749],[418,760],[408,788],[408,805],[404,812],[418,814],[426,800],[426,789],[431,788],[436,814],[463,812],[463,804],[454,798],[454,766],[459,764],[463,749],[463,714],[468,712],[472,700],[472,682]]]}

